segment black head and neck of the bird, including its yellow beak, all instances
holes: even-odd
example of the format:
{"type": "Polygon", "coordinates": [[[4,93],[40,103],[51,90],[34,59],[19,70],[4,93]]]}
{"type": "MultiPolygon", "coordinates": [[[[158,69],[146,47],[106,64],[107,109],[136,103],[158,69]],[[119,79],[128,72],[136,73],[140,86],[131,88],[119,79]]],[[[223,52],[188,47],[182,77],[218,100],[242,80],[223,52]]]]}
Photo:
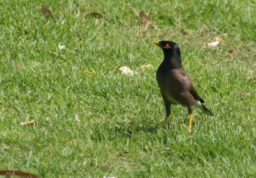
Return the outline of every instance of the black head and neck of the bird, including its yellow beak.
{"type": "Polygon", "coordinates": [[[173,66],[181,66],[180,47],[173,41],[153,41],[164,52],[164,60],[170,61],[173,66]]]}

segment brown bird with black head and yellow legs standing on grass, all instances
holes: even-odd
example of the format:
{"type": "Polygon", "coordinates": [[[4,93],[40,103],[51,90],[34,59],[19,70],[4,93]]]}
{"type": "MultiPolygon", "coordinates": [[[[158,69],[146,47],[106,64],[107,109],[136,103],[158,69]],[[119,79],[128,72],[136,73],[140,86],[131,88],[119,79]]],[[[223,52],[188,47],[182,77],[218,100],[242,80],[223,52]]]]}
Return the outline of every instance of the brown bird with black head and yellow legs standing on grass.
{"type": "Polygon", "coordinates": [[[193,122],[193,107],[200,108],[204,114],[213,116],[212,112],[205,107],[204,100],[197,93],[195,86],[182,67],[180,47],[173,41],[153,41],[161,47],[164,60],[156,71],[156,79],[164,101],[166,115],[161,128],[164,128],[171,115],[171,105],[188,107],[189,131],[193,122]]]}

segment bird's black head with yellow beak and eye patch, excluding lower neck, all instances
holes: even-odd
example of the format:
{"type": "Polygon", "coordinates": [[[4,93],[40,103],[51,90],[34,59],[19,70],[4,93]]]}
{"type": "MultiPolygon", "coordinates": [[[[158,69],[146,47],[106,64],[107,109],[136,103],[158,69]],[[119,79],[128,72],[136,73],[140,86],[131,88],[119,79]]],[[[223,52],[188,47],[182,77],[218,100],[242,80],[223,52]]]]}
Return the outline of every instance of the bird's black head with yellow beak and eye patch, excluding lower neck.
{"type": "Polygon", "coordinates": [[[164,52],[164,58],[180,58],[180,47],[173,41],[153,41],[154,44],[161,47],[164,52]]]}

